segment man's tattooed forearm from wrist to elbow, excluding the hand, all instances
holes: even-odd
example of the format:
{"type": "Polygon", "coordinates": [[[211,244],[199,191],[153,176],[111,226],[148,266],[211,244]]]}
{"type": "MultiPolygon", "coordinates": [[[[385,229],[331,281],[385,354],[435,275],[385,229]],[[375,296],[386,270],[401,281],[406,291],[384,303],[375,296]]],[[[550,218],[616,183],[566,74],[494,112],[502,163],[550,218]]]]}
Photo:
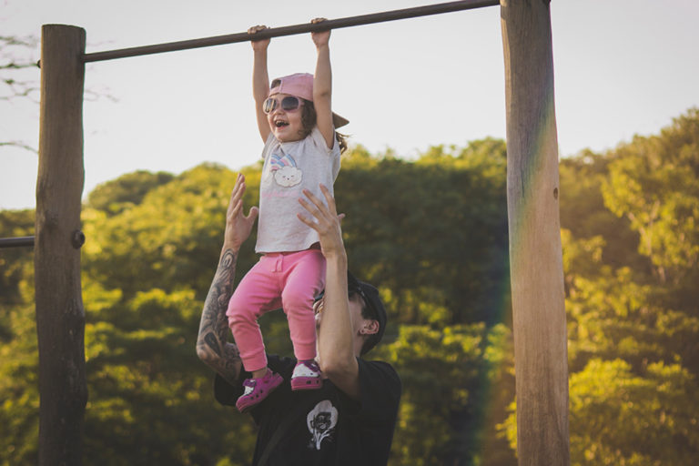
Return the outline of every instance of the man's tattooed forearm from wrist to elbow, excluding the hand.
{"type": "Polygon", "coordinates": [[[216,275],[208,289],[199,324],[197,354],[212,369],[228,381],[238,379],[240,359],[238,349],[228,342],[228,300],[233,294],[238,252],[224,247],[216,275]]]}

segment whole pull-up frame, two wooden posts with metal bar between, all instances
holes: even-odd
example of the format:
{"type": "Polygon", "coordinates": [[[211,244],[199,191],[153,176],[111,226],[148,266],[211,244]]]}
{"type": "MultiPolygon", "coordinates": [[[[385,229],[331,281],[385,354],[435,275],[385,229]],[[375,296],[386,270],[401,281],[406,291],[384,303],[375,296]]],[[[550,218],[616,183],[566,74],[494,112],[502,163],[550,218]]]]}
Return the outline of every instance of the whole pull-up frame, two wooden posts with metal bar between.
{"type": "MultiPolygon", "coordinates": [[[[567,466],[568,369],[558,206],[550,0],[465,0],[261,31],[256,38],[501,5],[506,78],[507,203],[518,461],[567,466]]],[[[36,183],[35,302],[39,464],[78,465],[86,407],[80,285],[85,63],[250,40],[247,33],[85,54],[85,31],[42,27],[36,183]]]]}

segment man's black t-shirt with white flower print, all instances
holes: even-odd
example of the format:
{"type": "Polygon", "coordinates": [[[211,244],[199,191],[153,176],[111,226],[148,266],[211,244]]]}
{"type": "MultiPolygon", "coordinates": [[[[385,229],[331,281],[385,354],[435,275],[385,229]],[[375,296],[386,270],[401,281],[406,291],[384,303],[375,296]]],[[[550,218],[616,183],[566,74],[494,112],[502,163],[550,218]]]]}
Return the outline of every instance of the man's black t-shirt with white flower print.
{"type": "MultiPolygon", "coordinates": [[[[398,415],[400,379],[386,362],[358,362],[360,400],[352,400],[330,380],[323,380],[319,390],[292,391],[289,380],[296,360],[268,356],[268,367],[284,383],[250,410],[259,427],[252,464],[258,464],[279,423],[295,415],[297,420],[269,455],[270,466],[385,466],[398,415]],[[302,411],[297,408],[299,403],[303,403],[302,411]]],[[[240,379],[247,377],[243,372],[240,379]]],[[[235,405],[243,390],[217,375],[214,392],[219,403],[235,405]]]]}

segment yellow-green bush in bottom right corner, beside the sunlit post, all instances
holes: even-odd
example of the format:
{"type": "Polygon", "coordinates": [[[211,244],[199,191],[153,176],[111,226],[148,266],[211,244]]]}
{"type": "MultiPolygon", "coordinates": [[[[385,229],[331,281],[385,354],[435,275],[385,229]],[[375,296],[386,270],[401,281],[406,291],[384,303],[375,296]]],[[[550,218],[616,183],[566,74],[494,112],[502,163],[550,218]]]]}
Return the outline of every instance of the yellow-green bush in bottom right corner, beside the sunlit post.
{"type": "Polygon", "coordinates": [[[573,465],[696,464],[699,387],[679,364],[590,360],[572,374],[570,413],[573,465]]]}

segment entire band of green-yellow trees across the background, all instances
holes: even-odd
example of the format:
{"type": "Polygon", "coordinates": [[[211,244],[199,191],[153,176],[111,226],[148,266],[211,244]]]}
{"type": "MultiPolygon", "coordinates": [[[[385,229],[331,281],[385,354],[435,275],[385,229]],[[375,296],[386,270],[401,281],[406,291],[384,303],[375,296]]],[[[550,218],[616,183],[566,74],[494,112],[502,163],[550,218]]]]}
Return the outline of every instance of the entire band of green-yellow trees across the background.
{"type": "MultiPolygon", "coordinates": [[[[697,141],[692,109],[658,136],[561,162],[572,464],[699,459],[697,141]]],[[[370,356],[403,381],[391,464],[516,462],[505,165],[504,143],[490,138],[413,161],[363,147],[343,157],[335,191],[349,267],[380,285],[390,314],[370,356]]],[[[249,208],[259,167],[243,171],[249,208]]],[[[234,179],[205,164],[90,193],[86,464],[251,457],[255,426],[213,400],[194,349],[234,179]]],[[[4,237],[33,228],[33,212],[0,212],[4,237]]],[[[254,242],[238,278],[257,260],[254,242]]],[[[31,250],[0,250],[0,466],[36,462],[33,283],[31,250]]],[[[268,349],[288,354],[284,315],[261,324],[268,349]]]]}

